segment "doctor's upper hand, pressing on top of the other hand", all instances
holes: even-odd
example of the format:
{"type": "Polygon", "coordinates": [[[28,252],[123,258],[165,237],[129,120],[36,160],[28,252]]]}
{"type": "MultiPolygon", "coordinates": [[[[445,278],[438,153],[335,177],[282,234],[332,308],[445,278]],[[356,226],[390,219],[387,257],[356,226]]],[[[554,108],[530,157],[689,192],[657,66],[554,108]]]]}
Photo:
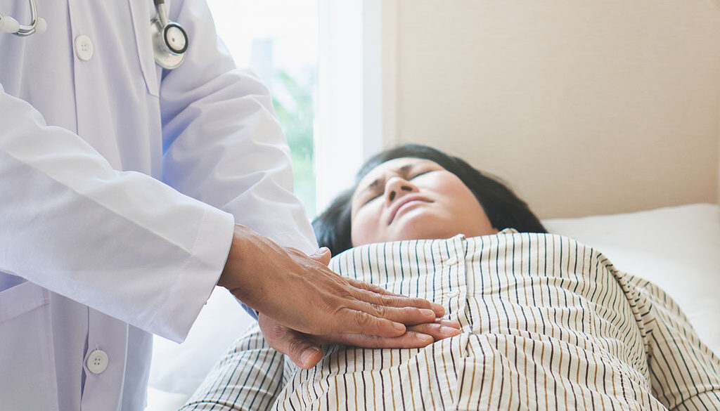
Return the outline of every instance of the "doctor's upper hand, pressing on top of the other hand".
{"type": "Polygon", "coordinates": [[[308,335],[394,338],[405,333],[406,324],[444,315],[440,304],[339,276],[327,266],[327,250],[313,257],[235,225],[217,285],[278,324],[308,335]]]}

